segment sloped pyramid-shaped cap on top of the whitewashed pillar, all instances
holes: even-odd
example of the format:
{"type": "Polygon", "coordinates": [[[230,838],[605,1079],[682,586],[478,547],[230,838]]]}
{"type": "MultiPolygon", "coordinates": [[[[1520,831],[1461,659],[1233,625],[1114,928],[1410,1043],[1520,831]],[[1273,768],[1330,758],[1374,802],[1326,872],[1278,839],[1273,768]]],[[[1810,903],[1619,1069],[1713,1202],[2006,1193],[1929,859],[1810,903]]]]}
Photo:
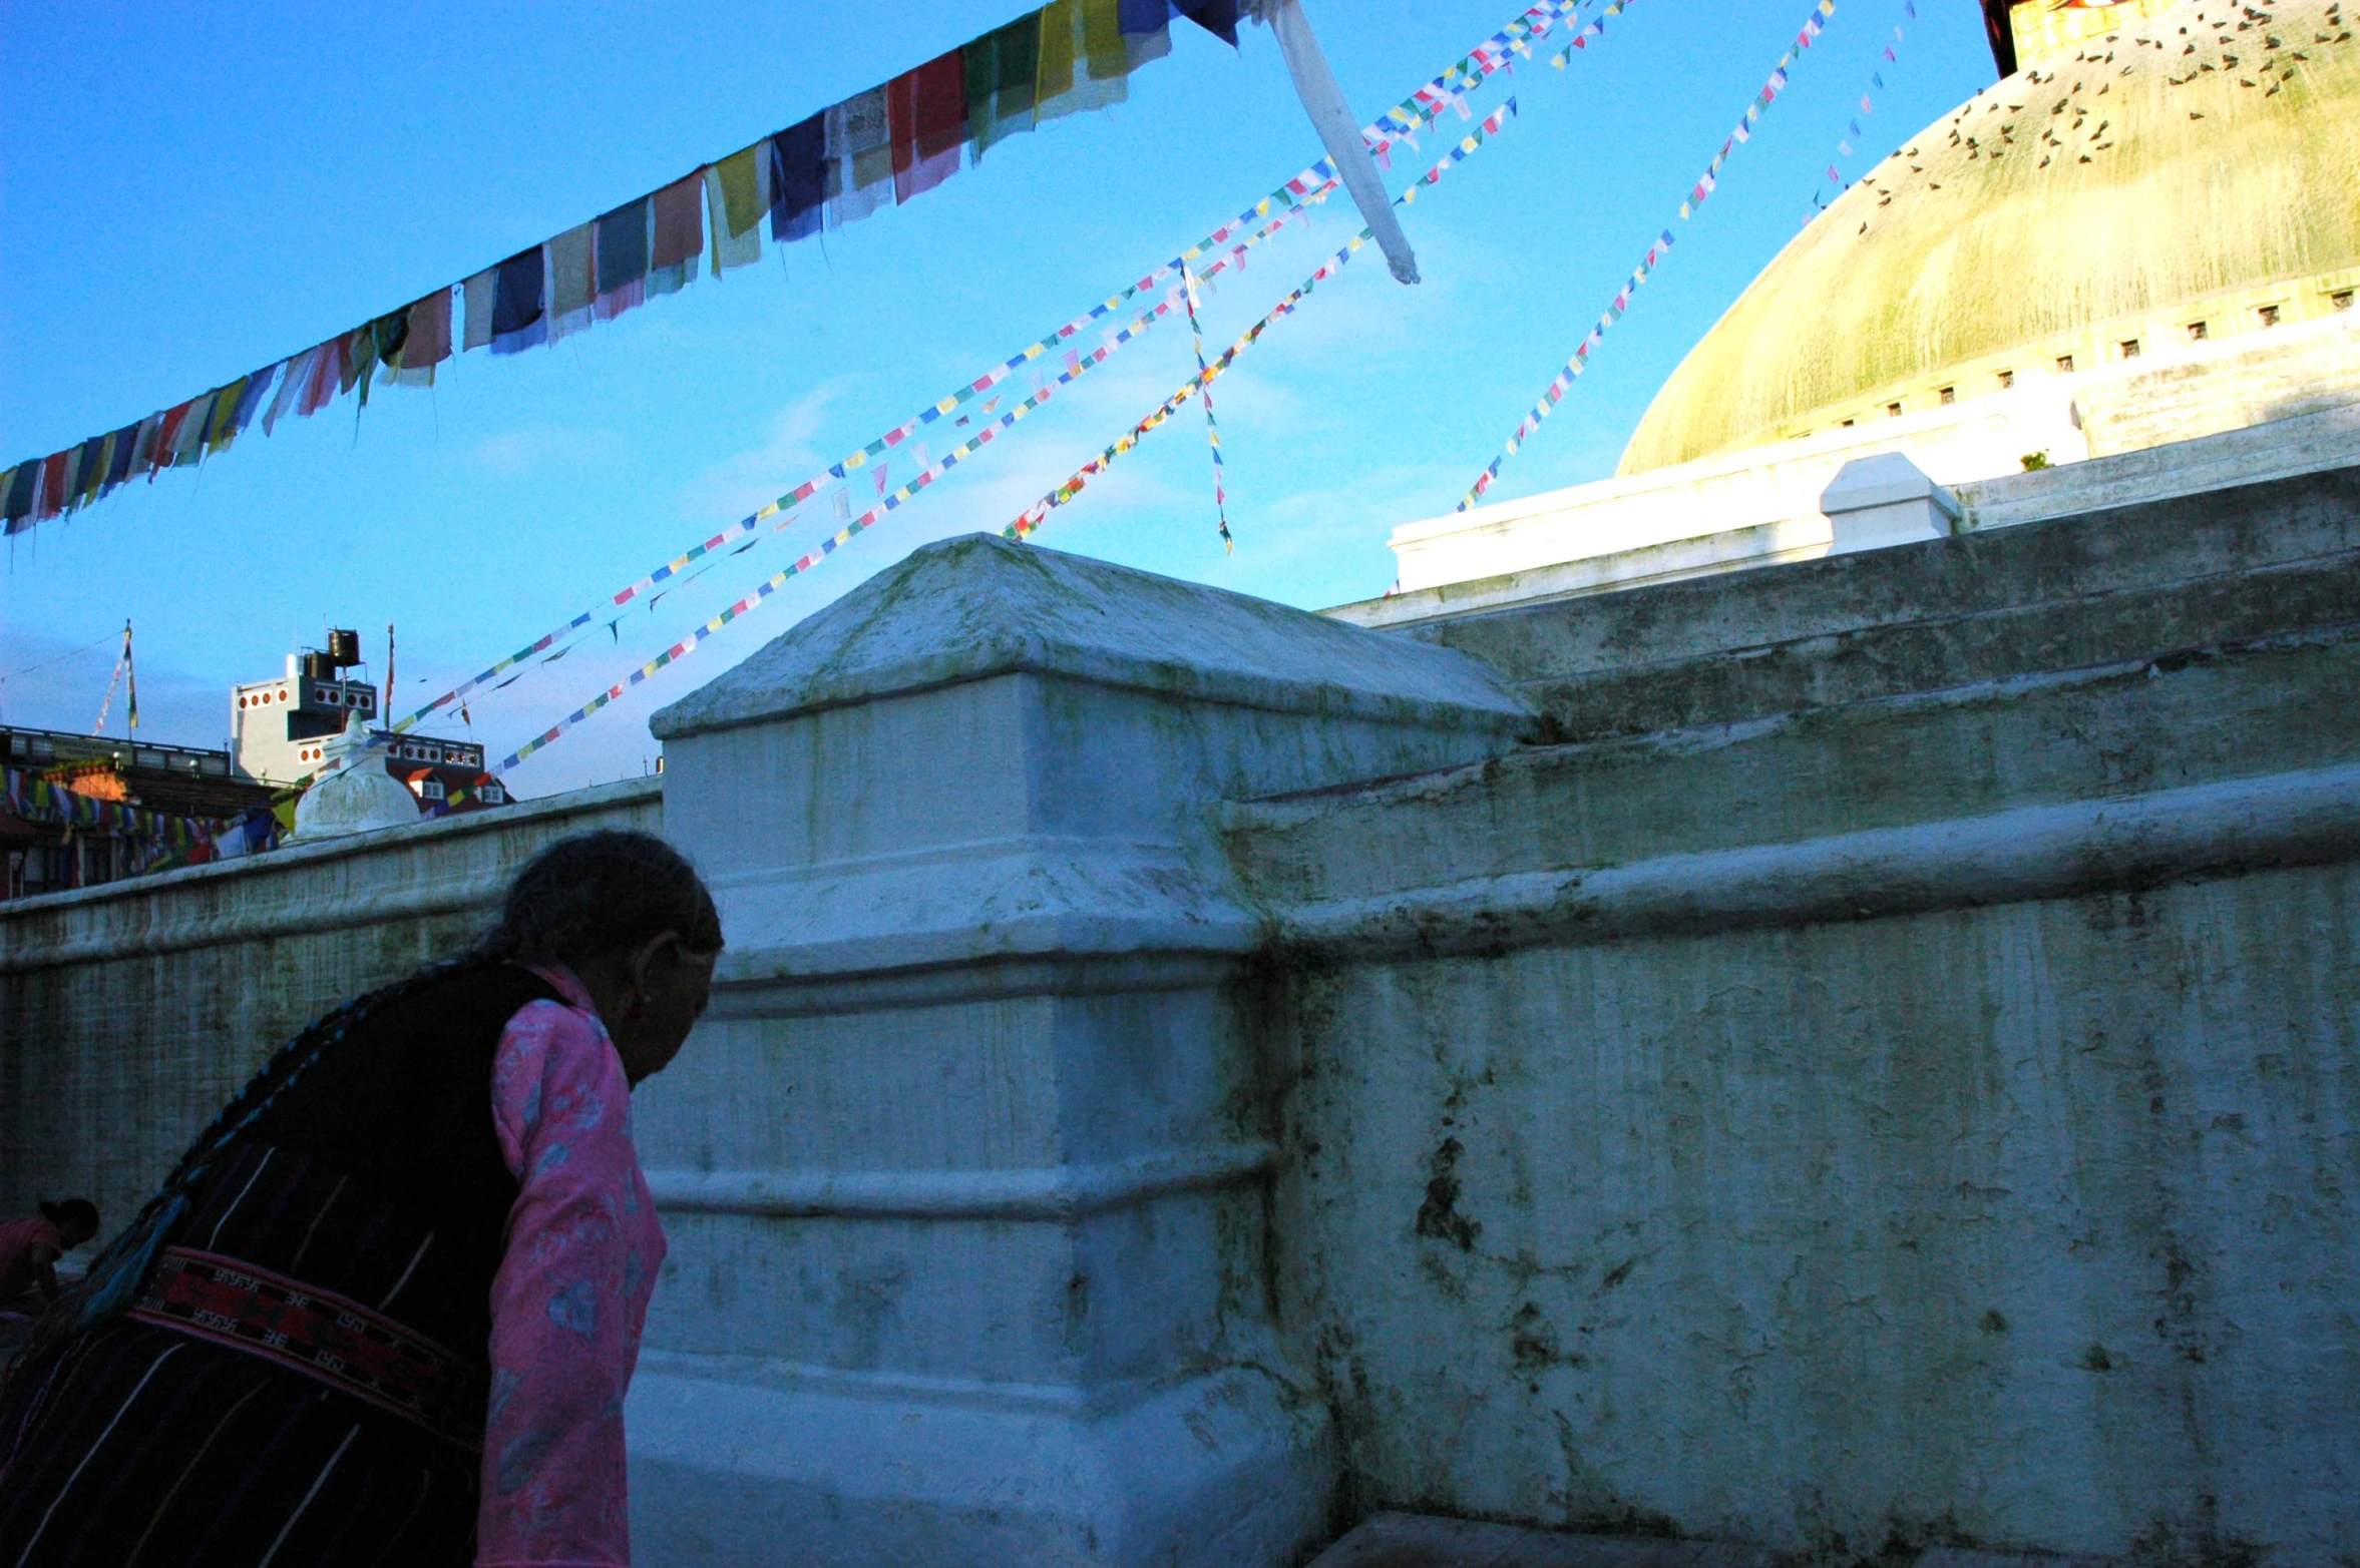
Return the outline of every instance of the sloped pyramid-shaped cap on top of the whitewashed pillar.
{"type": "Polygon", "coordinates": [[[1444,729],[1529,722],[1484,665],[1451,648],[968,533],[913,549],[649,729],[677,740],[996,674],[1444,729]]]}

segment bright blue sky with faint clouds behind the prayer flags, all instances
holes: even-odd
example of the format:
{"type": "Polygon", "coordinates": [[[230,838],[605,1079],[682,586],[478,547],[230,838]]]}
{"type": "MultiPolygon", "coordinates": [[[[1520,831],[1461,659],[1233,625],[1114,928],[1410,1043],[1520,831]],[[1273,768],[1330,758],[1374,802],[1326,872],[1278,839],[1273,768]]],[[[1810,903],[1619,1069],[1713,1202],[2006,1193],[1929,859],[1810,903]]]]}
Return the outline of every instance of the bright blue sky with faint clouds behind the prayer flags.
{"type": "MultiPolygon", "coordinates": [[[[1362,118],[1515,0],[1305,0],[1362,118]]],[[[0,5],[0,462],[177,403],[394,309],[1020,14],[843,5],[0,5]]],[[[1694,222],[1680,196],[1803,21],[1796,0],[1633,0],[1567,71],[1475,101],[1520,118],[1215,387],[1237,552],[1201,417],[1036,535],[1307,608],[1381,594],[1385,535],[1447,512],[1671,224],[1678,245],[1494,500],[1610,474],[1654,387],[1798,231],[1879,68],[1848,174],[1994,75],[1971,0],[1841,0],[1694,222]],[[1907,28],[1900,66],[1879,50],[1907,28]]],[[[219,745],[229,684],[326,625],[444,691],[1168,259],[1317,156],[1284,64],[1189,26],[1130,101],[1010,139],[909,207],[701,278],[432,394],[380,389],[250,434],[14,542],[0,719],[87,729],[139,630],[142,733],[219,745]],[[40,665],[38,670],[28,670],[40,665]]],[[[1447,120],[1456,125],[1456,120],[1447,120]]],[[[1399,189],[1440,153],[1395,158],[1399,189]]],[[[1208,299],[1227,342],[1359,226],[1343,198],[1208,299]]],[[[826,566],[512,776],[640,773],[647,714],[909,549],[1001,528],[1192,373],[1152,330],[826,566]]],[[[1022,394],[1020,394],[1022,396],[1022,394]]],[[[937,439],[935,450],[946,450],[937,439]]],[[[505,755],[835,528],[689,580],[609,639],[472,703],[505,755]]],[[[111,729],[120,729],[120,700],[111,729]]],[[[470,733],[455,719],[441,733],[470,733]]]]}

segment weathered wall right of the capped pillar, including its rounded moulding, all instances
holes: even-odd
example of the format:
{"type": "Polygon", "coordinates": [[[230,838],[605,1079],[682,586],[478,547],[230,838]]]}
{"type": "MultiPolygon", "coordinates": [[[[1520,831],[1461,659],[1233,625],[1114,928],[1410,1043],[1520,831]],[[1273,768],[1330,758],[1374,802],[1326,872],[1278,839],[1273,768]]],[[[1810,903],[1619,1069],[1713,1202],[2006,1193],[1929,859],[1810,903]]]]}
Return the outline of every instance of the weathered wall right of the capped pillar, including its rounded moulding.
{"type": "Polygon", "coordinates": [[[2360,639],[2178,646],[1232,806],[1355,1511],[2360,1551],[2360,639]]]}

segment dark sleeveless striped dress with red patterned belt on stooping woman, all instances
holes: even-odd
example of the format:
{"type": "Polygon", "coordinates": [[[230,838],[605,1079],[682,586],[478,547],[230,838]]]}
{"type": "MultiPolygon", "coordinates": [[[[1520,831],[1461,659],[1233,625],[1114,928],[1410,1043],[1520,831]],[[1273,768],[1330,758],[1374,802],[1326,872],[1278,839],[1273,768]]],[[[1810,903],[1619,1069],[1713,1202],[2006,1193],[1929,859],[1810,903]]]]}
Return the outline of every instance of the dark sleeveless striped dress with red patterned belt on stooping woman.
{"type": "Polygon", "coordinates": [[[281,1049],[0,1384],[0,1568],[463,1566],[491,1120],[526,969],[425,969],[281,1049]]]}

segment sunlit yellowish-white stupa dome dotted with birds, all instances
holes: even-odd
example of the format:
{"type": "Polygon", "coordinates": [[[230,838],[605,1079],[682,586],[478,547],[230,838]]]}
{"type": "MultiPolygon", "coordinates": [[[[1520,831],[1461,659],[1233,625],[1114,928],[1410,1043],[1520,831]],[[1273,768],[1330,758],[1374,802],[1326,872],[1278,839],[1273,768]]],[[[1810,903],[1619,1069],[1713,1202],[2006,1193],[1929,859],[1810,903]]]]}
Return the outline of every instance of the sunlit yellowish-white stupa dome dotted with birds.
{"type": "Polygon", "coordinates": [[[1812,219],[1619,472],[2351,309],[2355,108],[2360,42],[2329,0],[2181,5],[2037,61],[1812,219]]]}

